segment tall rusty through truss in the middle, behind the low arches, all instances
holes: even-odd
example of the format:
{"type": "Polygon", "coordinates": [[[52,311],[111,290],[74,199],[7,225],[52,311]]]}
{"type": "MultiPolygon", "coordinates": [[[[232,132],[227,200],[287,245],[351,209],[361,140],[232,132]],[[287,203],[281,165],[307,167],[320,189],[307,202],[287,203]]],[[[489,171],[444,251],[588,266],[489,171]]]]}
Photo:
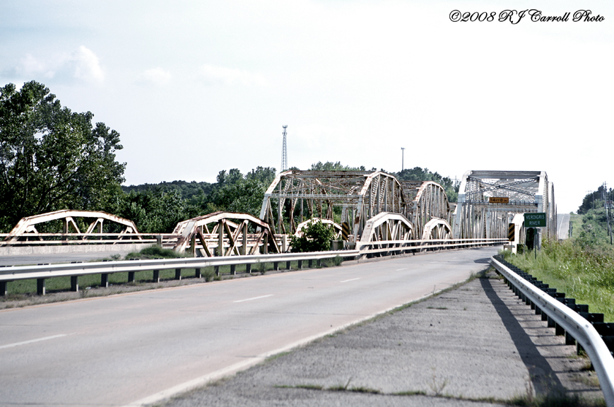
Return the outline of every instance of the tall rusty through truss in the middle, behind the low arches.
{"type": "Polygon", "coordinates": [[[367,220],[381,212],[406,213],[406,201],[396,177],[385,172],[300,171],[282,172],[264,194],[260,218],[273,232],[295,233],[308,218],[333,220],[356,240],[367,220]]]}

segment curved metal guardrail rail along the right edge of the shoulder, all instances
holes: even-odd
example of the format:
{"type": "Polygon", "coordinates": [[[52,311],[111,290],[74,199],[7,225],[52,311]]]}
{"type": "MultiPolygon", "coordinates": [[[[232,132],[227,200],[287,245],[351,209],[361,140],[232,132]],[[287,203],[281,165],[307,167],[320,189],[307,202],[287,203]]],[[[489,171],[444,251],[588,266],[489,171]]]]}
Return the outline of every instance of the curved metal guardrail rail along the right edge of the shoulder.
{"type": "Polygon", "coordinates": [[[490,263],[541,313],[547,314],[584,348],[593,363],[606,404],[608,407],[614,407],[614,358],[594,326],[567,305],[519,276],[494,256],[491,257],[490,263]]]}

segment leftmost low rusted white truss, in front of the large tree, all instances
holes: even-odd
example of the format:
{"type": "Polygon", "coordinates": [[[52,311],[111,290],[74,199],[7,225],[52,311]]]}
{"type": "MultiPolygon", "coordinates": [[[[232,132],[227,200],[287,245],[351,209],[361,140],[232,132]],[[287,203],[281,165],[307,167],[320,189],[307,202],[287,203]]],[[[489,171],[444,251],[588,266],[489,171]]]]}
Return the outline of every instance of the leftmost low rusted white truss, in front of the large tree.
{"type": "Polygon", "coordinates": [[[142,240],[142,236],[138,234],[136,225],[134,225],[132,220],[120,218],[119,216],[111,215],[106,212],[72,211],[64,209],[62,211],[41,213],[40,215],[21,218],[15,228],[6,235],[4,241],[1,242],[0,245],[15,244],[23,240],[33,239],[40,242],[49,242],[52,240],[67,240],[69,238],[73,240],[90,240],[93,237],[96,239],[105,237],[107,240],[115,238],[116,240],[114,240],[114,243],[117,242],[118,239],[122,240],[126,238],[142,240]],[[37,230],[37,225],[50,223],[54,220],[61,221],[61,231],[41,233],[37,230]],[[105,221],[114,225],[119,225],[121,231],[118,233],[103,233],[102,226],[105,221]],[[81,232],[78,223],[81,223],[82,226],[88,225],[85,232],[81,232]]]}

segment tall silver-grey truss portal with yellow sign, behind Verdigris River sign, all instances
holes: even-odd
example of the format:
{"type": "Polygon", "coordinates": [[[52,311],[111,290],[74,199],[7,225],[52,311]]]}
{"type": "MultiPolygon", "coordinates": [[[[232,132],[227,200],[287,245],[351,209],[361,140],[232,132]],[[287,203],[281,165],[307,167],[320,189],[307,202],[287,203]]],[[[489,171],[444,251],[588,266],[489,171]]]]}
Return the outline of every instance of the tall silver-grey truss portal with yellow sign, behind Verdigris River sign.
{"type": "Polygon", "coordinates": [[[507,237],[516,213],[546,213],[543,238],[556,238],[554,187],[544,171],[468,171],[454,211],[455,238],[507,237]]]}

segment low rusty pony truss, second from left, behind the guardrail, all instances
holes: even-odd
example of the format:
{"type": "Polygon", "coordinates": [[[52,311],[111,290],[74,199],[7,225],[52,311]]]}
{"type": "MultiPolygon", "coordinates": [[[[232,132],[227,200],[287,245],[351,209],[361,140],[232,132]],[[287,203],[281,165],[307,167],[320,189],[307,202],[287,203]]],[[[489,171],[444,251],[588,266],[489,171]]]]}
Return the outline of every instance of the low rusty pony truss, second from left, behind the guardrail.
{"type": "Polygon", "coordinates": [[[188,247],[207,257],[281,252],[268,224],[247,213],[209,213],[177,223],[172,233],[180,235],[179,253],[188,247]]]}

